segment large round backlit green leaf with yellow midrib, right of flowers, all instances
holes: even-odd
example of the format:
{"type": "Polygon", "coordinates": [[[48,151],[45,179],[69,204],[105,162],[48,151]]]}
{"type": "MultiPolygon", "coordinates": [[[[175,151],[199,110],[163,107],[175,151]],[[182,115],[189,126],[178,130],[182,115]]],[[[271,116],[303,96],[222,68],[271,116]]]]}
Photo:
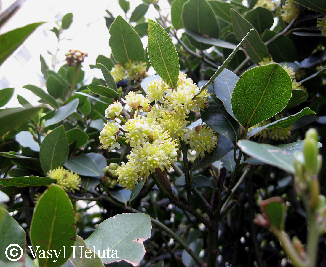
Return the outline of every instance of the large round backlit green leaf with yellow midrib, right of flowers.
{"type": "Polygon", "coordinates": [[[232,93],[232,110],[244,128],[254,126],[288,104],[292,80],[278,64],[258,66],[245,71],[232,93]]]}

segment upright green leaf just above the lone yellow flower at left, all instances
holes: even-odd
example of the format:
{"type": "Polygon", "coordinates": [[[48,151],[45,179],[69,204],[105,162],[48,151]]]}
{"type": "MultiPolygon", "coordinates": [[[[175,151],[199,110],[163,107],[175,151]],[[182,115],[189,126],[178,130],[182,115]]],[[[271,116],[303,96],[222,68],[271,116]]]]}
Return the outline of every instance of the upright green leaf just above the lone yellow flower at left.
{"type": "Polygon", "coordinates": [[[63,125],[54,129],[43,140],[40,148],[40,162],[44,173],[63,166],[68,158],[69,144],[63,125]]]}

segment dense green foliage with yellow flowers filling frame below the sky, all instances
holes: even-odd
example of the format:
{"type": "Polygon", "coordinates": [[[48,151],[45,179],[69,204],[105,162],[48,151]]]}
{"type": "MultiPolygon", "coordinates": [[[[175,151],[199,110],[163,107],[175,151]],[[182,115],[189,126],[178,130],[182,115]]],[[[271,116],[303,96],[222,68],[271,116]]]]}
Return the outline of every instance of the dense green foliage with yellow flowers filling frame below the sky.
{"type": "Polygon", "coordinates": [[[324,1],[142,2],[107,10],[101,77],[41,56],[40,105],[0,109],[1,266],[324,266],[324,1]]]}

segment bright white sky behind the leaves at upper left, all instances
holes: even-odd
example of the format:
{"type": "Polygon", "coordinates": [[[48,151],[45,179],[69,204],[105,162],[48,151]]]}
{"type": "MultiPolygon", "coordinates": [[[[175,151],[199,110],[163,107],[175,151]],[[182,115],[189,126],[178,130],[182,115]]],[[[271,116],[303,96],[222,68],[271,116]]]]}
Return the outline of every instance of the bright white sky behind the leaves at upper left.
{"type": "MultiPolygon", "coordinates": [[[[13,2],[2,0],[1,11],[5,10],[13,2]]],[[[134,10],[136,6],[142,3],[141,0],[130,0],[129,2],[130,10],[134,10]]],[[[167,0],[160,0],[159,4],[161,7],[169,5],[167,0]]],[[[32,104],[37,104],[38,97],[27,89],[22,88],[22,86],[32,84],[46,88],[44,81],[40,77],[41,65],[39,55],[41,54],[45,58],[51,69],[52,56],[47,51],[55,53],[57,39],[50,29],[56,25],[56,19],[61,19],[69,12],[73,13],[73,23],[64,32],[67,40],[63,40],[59,44],[60,51],[57,57],[62,62],[56,66],[56,71],[65,63],[64,54],[69,49],[78,49],[88,53],[88,57],[85,58],[83,63],[83,70],[86,72],[85,78],[89,77],[91,80],[93,76],[101,77],[100,71],[92,70],[88,65],[95,64],[96,57],[100,54],[110,57],[110,35],[104,19],[104,16],[107,15],[106,9],[115,17],[118,15],[125,17],[125,13],[120,8],[118,0],[26,0],[22,8],[1,28],[0,33],[34,22],[45,21],[47,23],[39,26],[0,67],[0,80],[2,79],[0,81],[0,89],[15,87],[15,95],[6,106],[20,106],[17,101],[17,93],[31,101],[32,104]],[[28,61],[22,56],[26,54],[31,57],[28,61]],[[4,85],[4,82],[8,84],[4,85]]],[[[127,12],[127,16],[130,17],[130,15],[130,11],[127,12]]],[[[158,13],[153,5],[150,6],[145,17],[151,19],[158,17],[158,13]]],[[[143,42],[144,46],[146,46],[146,38],[143,42]]]]}

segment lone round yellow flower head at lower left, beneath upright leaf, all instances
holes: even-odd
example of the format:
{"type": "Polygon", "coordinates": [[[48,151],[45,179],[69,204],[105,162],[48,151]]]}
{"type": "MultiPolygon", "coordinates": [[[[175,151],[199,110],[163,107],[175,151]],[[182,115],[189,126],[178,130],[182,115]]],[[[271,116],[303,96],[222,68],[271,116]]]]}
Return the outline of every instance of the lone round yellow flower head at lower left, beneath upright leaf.
{"type": "Polygon", "coordinates": [[[47,174],[52,179],[56,179],[57,184],[63,187],[63,189],[68,193],[79,190],[78,187],[82,184],[81,178],[77,173],[63,167],[57,167],[56,169],[50,170],[47,174]]]}

